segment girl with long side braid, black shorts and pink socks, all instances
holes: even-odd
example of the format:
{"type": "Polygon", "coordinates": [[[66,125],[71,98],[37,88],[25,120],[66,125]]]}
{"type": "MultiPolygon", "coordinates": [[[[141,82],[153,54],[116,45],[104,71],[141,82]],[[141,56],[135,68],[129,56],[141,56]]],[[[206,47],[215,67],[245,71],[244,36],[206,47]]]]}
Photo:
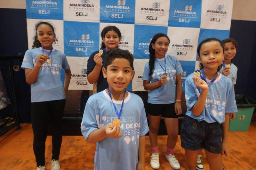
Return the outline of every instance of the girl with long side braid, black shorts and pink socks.
{"type": "Polygon", "coordinates": [[[178,138],[178,115],[181,114],[181,73],[179,60],[165,53],[170,39],[163,33],[156,34],[149,45],[149,62],[143,73],[143,85],[148,92],[149,139],[152,147],[150,166],[160,167],[157,148],[157,132],[161,117],[164,117],[168,133],[165,158],[174,169],[180,169],[180,164],[173,155],[178,138]],[[176,89],[175,89],[176,85],[176,89]]]}

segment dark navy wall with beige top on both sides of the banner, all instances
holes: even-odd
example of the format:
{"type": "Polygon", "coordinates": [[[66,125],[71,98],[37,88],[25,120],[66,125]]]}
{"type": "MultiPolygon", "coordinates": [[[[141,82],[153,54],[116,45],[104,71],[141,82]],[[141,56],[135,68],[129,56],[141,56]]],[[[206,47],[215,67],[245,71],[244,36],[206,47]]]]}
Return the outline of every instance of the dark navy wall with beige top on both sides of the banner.
{"type": "MultiPolygon", "coordinates": [[[[238,41],[238,52],[234,58],[234,64],[238,67],[235,92],[248,94],[256,99],[255,76],[250,76],[256,75],[253,66],[255,63],[253,51],[256,48],[256,11],[252,9],[254,6],[256,6],[254,0],[246,2],[234,0],[230,37],[238,41]]],[[[1,55],[18,55],[19,53],[24,55],[28,49],[25,8],[25,0],[0,1],[0,14],[5,16],[1,18],[0,29],[2,40],[4,40],[1,41],[1,55]]],[[[16,84],[22,89],[17,92],[20,122],[30,122],[30,91],[29,85],[25,82],[24,70],[20,69],[15,78],[16,84]]],[[[77,97],[80,97],[80,94],[77,97]]]]}

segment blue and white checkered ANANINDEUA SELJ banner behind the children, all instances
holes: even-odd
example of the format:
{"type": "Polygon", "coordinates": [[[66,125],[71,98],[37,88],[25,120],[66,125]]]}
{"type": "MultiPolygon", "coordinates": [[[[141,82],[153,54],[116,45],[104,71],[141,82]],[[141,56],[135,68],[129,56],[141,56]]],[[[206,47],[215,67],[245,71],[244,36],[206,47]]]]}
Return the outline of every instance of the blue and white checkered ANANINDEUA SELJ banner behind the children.
{"type": "Polygon", "coordinates": [[[101,30],[114,25],[122,34],[119,48],[134,55],[135,76],[128,90],[144,91],[142,75],[151,38],[168,35],[167,54],[180,60],[184,84],[198,68],[198,44],[205,38],[229,37],[233,0],[26,0],[26,5],[28,48],[36,23],[52,24],[53,47],[66,54],[72,71],[69,90],[92,90],[85,74],[88,57],[100,48],[101,30]]]}

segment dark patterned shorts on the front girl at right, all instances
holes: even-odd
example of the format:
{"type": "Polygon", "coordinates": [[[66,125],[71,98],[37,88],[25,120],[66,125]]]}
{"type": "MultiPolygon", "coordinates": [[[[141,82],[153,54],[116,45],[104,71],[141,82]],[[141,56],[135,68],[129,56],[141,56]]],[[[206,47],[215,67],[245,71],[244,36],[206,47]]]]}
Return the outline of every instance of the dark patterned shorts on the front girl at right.
{"type": "Polygon", "coordinates": [[[186,115],[181,124],[181,147],[187,150],[206,149],[211,153],[221,153],[222,136],[222,126],[218,122],[198,122],[186,115]]]}

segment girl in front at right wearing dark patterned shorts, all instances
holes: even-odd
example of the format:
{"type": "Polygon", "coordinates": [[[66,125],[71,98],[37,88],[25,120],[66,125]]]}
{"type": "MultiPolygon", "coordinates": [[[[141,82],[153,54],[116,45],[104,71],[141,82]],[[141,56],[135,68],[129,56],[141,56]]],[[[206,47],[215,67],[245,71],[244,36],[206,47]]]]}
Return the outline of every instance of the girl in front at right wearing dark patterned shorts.
{"type": "Polygon", "coordinates": [[[186,78],[187,113],[181,125],[181,146],[185,149],[186,170],[196,169],[204,149],[213,170],[222,170],[222,156],[228,156],[229,113],[237,112],[231,80],[218,71],[224,60],[220,40],[208,38],[198,48],[200,70],[186,78]]]}

